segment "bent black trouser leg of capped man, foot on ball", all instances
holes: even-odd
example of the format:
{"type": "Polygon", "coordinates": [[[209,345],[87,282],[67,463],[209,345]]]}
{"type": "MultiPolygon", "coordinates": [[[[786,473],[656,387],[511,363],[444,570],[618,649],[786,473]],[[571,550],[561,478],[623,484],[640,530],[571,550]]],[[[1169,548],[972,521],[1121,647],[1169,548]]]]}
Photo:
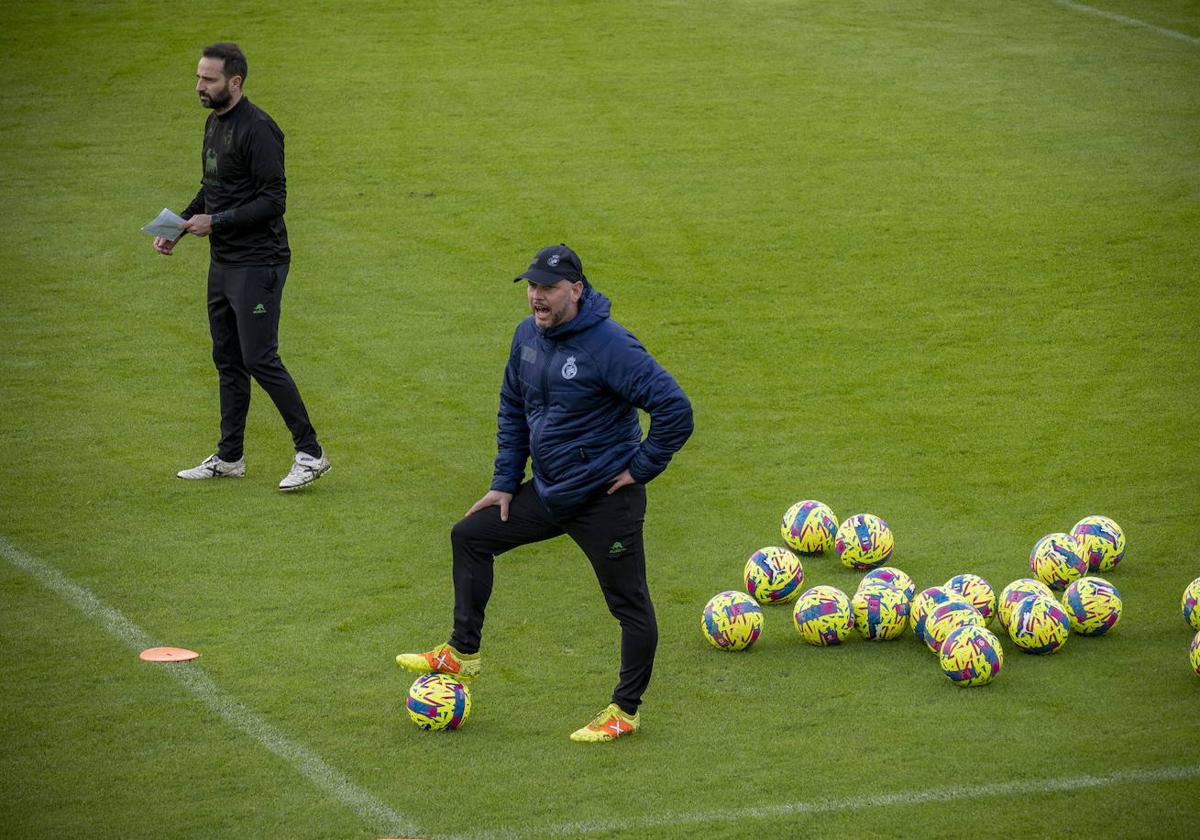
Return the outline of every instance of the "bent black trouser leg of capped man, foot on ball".
{"type": "Polygon", "coordinates": [[[454,632],[450,643],[462,653],[479,650],[484,612],[492,596],[497,554],[540,542],[563,533],[538,498],[533,485],[517,488],[509,504],[508,522],[496,505],[463,517],[450,529],[454,554],[454,632]]]}

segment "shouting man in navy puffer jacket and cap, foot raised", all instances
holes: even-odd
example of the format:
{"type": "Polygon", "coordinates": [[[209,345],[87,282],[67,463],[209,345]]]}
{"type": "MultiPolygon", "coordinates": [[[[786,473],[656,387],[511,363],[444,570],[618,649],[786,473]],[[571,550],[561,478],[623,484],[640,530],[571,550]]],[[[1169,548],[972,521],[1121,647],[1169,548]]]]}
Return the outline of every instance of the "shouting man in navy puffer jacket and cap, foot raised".
{"type": "Polygon", "coordinates": [[[612,703],[572,740],[635,731],[650,680],[658,625],[646,584],[646,484],[691,434],[691,403],[583,275],[565,245],[542,248],[527,281],[530,317],[517,326],[500,386],[491,490],[451,530],[455,612],[450,641],[396,661],[474,677],[496,554],[568,534],[595,570],[620,624],[612,703]],[[637,412],[650,415],[646,438],[637,412]],[[523,481],[526,462],[533,479],[523,481]]]}

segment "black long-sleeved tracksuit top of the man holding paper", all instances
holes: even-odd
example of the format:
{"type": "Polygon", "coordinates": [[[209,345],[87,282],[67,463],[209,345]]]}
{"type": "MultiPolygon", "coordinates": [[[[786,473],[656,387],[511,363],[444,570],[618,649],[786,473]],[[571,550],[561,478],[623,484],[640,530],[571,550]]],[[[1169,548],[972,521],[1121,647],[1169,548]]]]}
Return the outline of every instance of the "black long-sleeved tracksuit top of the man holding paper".
{"type": "Polygon", "coordinates": [[[200,172],[200,190],[181,215],[221,214],[209,236],[212,262],[289,262],[283,132],[275,120],[245,96],[228,113],[209,114],[200,172]]]}

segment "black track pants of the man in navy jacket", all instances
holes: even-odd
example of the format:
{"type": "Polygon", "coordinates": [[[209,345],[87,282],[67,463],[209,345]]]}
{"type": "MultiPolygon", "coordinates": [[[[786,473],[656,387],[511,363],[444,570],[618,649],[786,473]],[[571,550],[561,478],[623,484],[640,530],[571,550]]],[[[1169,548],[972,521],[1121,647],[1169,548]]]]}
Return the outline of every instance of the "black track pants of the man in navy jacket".
{"type": "Polygon", "coordinates": [[[512,497],[508,522],[500,521],[500,509],[494,505],[460,520],[450,532],[455,590],[450,643],[463,653],[479,650],[497,554],[568,534],[592,562],[608,611],[620,624],[620,678],[612,700],[625,712],[636,712],[649,685],[659,643],[646,584],[644,517],[643,485],[628,485],[612,496],[601,492],[575,517],[558,522],[526,482],[512,497]]]}

